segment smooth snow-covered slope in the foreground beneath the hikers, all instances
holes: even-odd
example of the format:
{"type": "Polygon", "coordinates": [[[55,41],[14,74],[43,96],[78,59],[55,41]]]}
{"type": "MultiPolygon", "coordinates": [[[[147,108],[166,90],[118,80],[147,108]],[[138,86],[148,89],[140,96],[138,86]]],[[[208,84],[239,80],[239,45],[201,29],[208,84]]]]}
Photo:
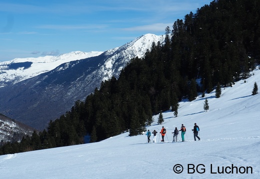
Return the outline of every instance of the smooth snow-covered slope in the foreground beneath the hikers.
{"type": "Polygon", "coordinates": [[[178,117],[165,112],[162,125],[154,116],[147,129],[164,126],[169,142],[149,144],[145,135],[124,133],[97,143],[0,156],[0,179],[259,179],[260,94],[251,91],[254,82],[260,84],[260,70],[252,74],[246,83],[222,88],[218,99],[213,91],[181,102],[178,117]],[[205,98],[208,112],[203,110],[205,98]],[[193,140],[194,123],[200,141],[193,140]],[[181,124],[187,142],[171,143],[171,132],[181,124]],[[183,171],[176,174],[180,165],[183,171]]]}

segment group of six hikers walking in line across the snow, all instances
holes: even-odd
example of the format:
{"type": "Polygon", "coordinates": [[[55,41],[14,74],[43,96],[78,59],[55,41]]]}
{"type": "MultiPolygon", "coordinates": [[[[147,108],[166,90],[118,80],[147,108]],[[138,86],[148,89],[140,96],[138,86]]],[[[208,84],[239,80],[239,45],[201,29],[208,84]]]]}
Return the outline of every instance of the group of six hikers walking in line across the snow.
{"type": "MultiPolygon", "coordinates": [[[[196,123],[194,123],[194,127],[191,130],[193,131],[193,134],[194,134],[194,140],[196,141],[196,138],[198,140],[200,140],[200,138],[198,137],[199,127],[197,126],[196,123]]],[[[173,134],[173,141],[172,142],[177,142],[178,141],[179,131],[181,131],[181,140],[182,140],[182,142],[185,142],[184,134],[186,132],[186,128],[185,128],[185,126],[183,124],[181,124],[180,130],[178,130],[177,127],[175,127],[174,131],[172,132],[172,134],[173,134]]],[[[148,143],[150,143],[150,136],[151,136],[151,134],[153,134],[152,142],[156,143],[157,132],[155,130],[153,130],[152,133],[148,130],[147,133],[145,134],[147,136],[148,143]]],[[[161,140],[160,141],[164,142],[164,136],[166,135],[166,129],[163,126],[162,126],[162,128],[160,130],[160,135],[161,135],[161,140]]]]}

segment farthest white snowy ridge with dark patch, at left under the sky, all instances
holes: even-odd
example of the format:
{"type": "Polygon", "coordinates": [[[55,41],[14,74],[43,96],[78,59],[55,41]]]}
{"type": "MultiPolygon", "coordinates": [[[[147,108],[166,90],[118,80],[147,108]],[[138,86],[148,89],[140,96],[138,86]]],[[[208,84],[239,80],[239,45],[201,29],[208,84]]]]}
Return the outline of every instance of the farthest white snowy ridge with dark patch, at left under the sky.
{"type": "Polygon", "coordinates": [[[59,56],[43,56],[37,58],[15,58],[0,62],[0,87],[15,84],[19,81],[53,70],[62,63],[98,56],[102,52],[74,51],[59,56]]]}

